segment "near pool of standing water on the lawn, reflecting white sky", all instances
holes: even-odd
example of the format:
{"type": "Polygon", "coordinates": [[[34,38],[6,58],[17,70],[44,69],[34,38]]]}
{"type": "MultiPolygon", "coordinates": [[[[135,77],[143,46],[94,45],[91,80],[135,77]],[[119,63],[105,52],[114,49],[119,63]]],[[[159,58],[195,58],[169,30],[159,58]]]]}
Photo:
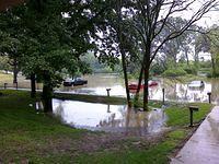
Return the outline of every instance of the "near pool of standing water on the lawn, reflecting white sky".
{"type": "Polygon", "coordinates": [[[64,122],[82,129],[146,136],[165,129],[162,109],[136,112],[126,105],[105,105],[53,99],[54,114],[64,122]]]}

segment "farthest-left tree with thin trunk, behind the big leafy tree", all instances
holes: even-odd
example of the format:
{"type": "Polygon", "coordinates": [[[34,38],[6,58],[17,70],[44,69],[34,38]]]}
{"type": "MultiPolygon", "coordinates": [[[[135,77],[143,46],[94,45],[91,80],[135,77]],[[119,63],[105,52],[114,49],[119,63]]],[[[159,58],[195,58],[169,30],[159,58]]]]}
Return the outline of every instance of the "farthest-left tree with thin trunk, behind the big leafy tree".
{"type": "Polygon", "coordinates": [[[18,83],[19,57],[22,55],[21,20],[19,19],[20,10],[7,10],[0,13],[1,35],[3,37],[0,46],[0,54],[10,58],[9,65],[13,67],[13,83],[18,83]]]}

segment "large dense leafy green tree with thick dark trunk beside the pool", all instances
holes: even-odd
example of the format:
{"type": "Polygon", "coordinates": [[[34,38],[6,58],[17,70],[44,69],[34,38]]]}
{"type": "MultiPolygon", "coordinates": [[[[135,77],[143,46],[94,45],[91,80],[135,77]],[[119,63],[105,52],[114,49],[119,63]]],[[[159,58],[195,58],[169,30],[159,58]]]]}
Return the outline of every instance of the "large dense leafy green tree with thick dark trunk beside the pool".
{"type": "MultiPolygon", "coordinates": [[[[4,12],[21,23],[18,26],[20,37],[10,35],[7,26],[4,33],[19,43],[13,45],[21,48],[22,54],[13,55],[19,57],[22,72],[31,77],[33,90],[35,79],[42,80],[45,112],[53,110],[53,89],[62,82],[62,69],[72,75],[77,71],[88,71],[88,65],[80,60],[80,56],[94,48],[89,33],[94,31],[95,20],[104,12],[97,3],[97,0],[30,0],[4,12]]],[[[9,50],[12,49],[9,47],[9,50]]]]}

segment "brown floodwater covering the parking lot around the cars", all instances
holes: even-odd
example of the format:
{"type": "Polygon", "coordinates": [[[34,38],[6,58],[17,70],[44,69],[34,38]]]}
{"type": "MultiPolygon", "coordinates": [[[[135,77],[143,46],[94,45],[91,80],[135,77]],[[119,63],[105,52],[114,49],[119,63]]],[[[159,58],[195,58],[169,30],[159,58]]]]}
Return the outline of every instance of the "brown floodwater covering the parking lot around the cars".
{"type": "MultiPolygon", "coordinates": [[[[117,74],[87,75],[88,84],[83,86],[61,87],[60,92],[73,94],[107,95],[106,89],[111,89],[112,96],[126,96],[124,80],[117,74]]],[[[219,80],[205,81],[201,89],[189,89],[187,83],[158,79],[158,85],[149,87],[150,99],[162,99],[162,89],[165,89],[165,99],[176,102],[208,102],[208,92],[211,99],[219,104],[219,80]]]]}

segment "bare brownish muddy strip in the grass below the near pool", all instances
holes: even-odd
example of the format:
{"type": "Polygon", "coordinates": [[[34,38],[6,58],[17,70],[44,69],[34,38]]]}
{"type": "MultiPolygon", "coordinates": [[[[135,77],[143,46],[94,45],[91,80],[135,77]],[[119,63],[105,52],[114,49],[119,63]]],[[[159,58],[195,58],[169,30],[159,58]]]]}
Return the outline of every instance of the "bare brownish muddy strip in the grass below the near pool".
{"type": "Polygon", "coordinates": [[[120,133],[108,132],[85,132],[80,139],[60,137],[59,139],[47,139],[47,144],[36,147],[41,155],[68,153],[77,156],[81,153],[92,154],[94,152],[110,152],[119,150],[142,150],[162,140],[166,132],[146,136],[131,137],[120,133]],[[42,152],[42,153],[41,153],[42,152]]]}

